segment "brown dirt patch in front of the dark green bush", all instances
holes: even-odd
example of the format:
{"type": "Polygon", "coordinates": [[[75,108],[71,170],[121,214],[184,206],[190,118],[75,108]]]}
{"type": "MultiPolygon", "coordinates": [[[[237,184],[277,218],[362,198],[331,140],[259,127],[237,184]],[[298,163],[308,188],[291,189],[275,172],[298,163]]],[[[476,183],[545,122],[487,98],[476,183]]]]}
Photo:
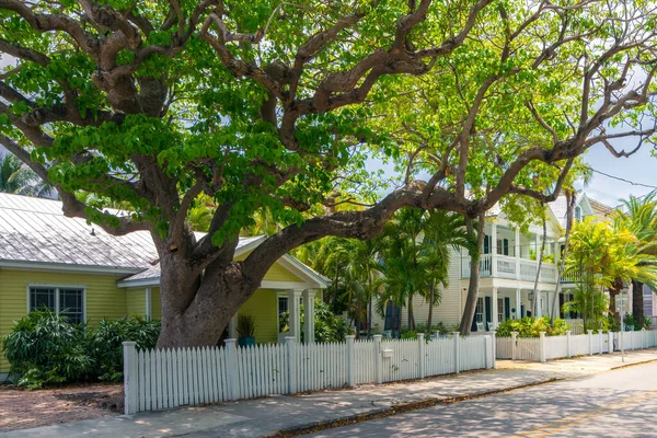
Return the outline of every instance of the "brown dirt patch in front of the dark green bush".
{"type": "Polygon", "coordinates": [[[26,391],[0,385],[0,433],[117,415],[123,385],[80,384],[26,391]]]}

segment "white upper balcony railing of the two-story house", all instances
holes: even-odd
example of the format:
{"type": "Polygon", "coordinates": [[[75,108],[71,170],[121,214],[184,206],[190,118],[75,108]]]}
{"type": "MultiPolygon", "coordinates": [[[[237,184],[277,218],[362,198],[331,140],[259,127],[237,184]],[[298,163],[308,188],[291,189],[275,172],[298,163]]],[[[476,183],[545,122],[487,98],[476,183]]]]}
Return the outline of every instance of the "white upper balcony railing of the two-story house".
{"type": "MultiPolygon", "coordinates": [[[[532,260],[510,257],[500,254],[484,254],[480,261],[481,278],[507,278],[511,280],[534,281],[539,263],[532,260]],[[493,269],[493,268],[496,269],[493,269]],[[494,276],[493,273],[496,272],[494,276]]],[[[470,260],[463,258],[462,278],[470,278],[470,260]]],[[[541,283],[556,283],[556,266],[553,263],[541,265],[541,283]]]]}

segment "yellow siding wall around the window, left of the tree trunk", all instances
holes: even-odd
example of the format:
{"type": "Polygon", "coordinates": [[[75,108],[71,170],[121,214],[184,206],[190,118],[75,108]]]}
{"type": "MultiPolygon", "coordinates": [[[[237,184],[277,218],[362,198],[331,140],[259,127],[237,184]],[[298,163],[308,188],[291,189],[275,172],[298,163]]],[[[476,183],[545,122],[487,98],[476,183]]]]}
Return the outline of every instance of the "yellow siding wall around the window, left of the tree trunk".
{"type": "MultiPolygon", "coordinates": [[[[84,287],[87,322],[91,325],[103,318],[126,316],[126,290],[116,286],[118,278],[115,275],[0,269],[0,336],[9,334],[14,321],[27,313],[30,284],[84,287]]],[[[0,357],[0,372],[7,372],[8,368],[4,357],[0,357]]]]}

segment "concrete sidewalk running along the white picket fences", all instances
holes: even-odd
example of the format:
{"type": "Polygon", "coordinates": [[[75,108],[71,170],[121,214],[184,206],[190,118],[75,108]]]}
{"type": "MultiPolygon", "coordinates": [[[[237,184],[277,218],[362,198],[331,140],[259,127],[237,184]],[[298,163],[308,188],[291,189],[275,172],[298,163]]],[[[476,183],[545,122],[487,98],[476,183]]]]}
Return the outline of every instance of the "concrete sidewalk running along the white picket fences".
{"type": "Polygon", "coordinates": [[[584,377],[625,365],[657,360],[657,349],[554,360],[546,364],[499,360],[494,370],[413,382],[362,385],[299,396],[270,396],[233,403],[184,407],[135,416],[96,418],[16,430],[1,437],[256,437],[310,427],[359,415],[390,415],[391,408],[429,401],[476,396],[554,380],[584,377]]]}

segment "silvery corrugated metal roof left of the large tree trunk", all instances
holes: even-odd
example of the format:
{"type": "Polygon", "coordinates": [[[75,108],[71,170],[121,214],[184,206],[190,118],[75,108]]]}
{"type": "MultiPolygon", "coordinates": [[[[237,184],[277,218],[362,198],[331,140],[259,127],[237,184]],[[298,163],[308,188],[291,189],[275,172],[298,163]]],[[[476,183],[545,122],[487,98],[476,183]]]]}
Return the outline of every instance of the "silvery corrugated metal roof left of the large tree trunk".
{"type": "Polygon", "coordinates": [[[61,201],[0,193],[0,261],[139,269],[155,258],[148,231],[114,237],[65,217],[61,201]]]}

